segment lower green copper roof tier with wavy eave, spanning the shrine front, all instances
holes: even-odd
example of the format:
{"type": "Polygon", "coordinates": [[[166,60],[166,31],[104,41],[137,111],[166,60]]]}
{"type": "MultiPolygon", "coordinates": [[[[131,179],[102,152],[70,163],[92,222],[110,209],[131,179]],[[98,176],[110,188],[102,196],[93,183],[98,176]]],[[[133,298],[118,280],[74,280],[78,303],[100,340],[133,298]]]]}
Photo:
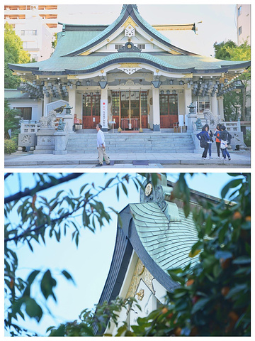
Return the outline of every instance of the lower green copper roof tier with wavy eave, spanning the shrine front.
{"type": "Polygon", "coordinates": [[[225,72],[224,68],[241,68],[249,66],[249,62],[237,62],[229,60],[217,60],[200,55],[150,55],[149,53],[112,53],[100,55],[99,53],[86,56],[57,57],[57,54],[48,60],[29,64],[10,64],[11,69],[22,70],[33,68],[35,73],[40,72],[64,72],[79,73],[79,71],[93,72],[95,69],[115,63],[145,63],[153,64],[161,70],[169,72],[198,72],[214,70],[225,72]],[[222,70],[221,70],[222,69],[222,70]],[[38,70],[38,72],[37,72],[38,70]],[[77,72],[75,72],[77,71],[77,72]]]}

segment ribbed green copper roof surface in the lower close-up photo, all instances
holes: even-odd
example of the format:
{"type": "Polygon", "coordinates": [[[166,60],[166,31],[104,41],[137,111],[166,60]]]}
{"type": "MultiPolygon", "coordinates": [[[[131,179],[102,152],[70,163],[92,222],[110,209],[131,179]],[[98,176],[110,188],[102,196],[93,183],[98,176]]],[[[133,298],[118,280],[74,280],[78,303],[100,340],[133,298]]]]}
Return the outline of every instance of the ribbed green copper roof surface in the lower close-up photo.
{"type": "Polygon", "coordinates": [[[156,202],[130,204],[137,234],[151,258],[167,272],[168,269],[184,267],[198,257],[188,256],[198,241],[192,216],[185,217],[179,208],[181,222],[169,222],[156,202]]]}

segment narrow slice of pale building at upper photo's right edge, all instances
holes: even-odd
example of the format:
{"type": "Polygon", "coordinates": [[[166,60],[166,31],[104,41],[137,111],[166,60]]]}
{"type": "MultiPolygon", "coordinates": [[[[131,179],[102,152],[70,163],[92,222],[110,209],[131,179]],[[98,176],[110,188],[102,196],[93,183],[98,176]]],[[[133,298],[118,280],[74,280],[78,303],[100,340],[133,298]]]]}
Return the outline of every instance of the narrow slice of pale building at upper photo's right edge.
{"type": "Polygon", "coordinates": [[[237,5],[237,45],[247,40],[251,45],[251,5],[237,5]]]}

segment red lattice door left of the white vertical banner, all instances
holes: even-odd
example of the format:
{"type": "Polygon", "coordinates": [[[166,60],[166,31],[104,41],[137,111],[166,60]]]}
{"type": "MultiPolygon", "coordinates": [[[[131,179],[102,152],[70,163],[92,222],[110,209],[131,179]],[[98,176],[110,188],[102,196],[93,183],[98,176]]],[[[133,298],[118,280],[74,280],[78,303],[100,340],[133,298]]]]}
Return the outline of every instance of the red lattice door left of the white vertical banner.
{"type": "Polygon", "coordinates": [[[84,94],[82,99],[82,127],[83,129],[96,129],[100,123],[100,99],[99,92],[84,94]]]}

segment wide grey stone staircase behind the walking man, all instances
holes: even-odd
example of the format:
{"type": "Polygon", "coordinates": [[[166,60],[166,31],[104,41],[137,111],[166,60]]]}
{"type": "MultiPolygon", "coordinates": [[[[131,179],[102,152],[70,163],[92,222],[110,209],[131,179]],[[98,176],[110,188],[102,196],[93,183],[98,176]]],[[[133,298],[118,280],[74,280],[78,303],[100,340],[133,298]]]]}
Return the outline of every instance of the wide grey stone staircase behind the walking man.
{"type": "MultiPolygon", "coordinates": [[[[107,153],[193,153],[189,133],[110,133],[106,132],[107,153]]],[[[70,134],[67,153],[95,153],[96,132],[70,134]]]]}

